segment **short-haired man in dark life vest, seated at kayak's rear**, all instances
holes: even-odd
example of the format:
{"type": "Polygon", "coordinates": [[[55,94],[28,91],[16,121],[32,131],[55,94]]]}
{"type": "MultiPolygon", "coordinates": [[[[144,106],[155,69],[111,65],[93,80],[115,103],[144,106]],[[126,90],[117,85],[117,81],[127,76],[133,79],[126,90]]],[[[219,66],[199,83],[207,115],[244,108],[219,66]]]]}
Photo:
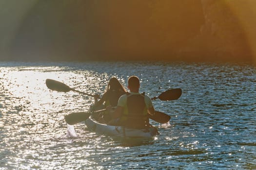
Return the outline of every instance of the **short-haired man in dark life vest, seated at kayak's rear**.
{"type": "Polygon", "coordinates": [[[128,128],[145,129],[148,128],[150,115],[155,115],[155,108],[151,99],[145,93],[139,93],[139,79],[131,76],[128,79],[128,89],[130,93],[122,95],[118,100],[118,106],[110,125],[123,125],[128,128]]]}

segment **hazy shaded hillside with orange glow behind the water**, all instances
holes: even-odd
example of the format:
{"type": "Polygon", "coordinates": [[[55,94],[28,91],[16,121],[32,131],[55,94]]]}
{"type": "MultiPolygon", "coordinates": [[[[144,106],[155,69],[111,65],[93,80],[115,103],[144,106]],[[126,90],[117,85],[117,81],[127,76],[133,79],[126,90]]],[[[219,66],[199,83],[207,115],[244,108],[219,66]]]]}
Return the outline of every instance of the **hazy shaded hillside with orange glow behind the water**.
{"type": "Polygon", "coordinates": [[[13,3],[0,2],[0,60],[256,62],[255,0],[13,3]]]}

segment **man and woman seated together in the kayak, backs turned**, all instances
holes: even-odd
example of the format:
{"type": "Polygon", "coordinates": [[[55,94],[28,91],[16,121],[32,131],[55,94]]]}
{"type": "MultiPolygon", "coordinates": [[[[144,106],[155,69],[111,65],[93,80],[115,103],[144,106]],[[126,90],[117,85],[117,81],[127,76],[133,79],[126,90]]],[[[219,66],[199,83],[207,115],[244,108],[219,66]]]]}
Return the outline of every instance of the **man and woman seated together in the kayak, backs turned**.
{"type": "MultiPolygon", "coordinates": [[[[148,114],[155,115],[151,99],[139,93],[139,79],[131,76],[128,79],[128,93],[116,78],[111,78],[102,98],[95,103],[94,108],[104,102],[107,111],[99,121],[109,125],[125,126],[128,128],[144,129],[150,126],[148,114]],[[116,107],[115,110],[112,107],[116,107]]],[[[94,96],[96,101],[98,95],[94,96]]]]}

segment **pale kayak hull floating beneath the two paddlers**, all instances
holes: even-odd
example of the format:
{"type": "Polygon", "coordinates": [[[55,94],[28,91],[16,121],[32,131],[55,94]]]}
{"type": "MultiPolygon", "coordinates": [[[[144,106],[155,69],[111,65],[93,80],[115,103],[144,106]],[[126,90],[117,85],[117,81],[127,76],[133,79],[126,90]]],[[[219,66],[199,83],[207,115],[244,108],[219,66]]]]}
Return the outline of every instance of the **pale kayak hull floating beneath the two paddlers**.
{"type": "Polygon", "coordinates": [[[128,138],[154,138],[158,135],[157,128],[151,126],[148,129],[131,129],[124,126],[112,126],[99,123],[96,119],[90,116],[85,120],[85,125],[89,130],[106,136],[120,136],[128,138]]]}

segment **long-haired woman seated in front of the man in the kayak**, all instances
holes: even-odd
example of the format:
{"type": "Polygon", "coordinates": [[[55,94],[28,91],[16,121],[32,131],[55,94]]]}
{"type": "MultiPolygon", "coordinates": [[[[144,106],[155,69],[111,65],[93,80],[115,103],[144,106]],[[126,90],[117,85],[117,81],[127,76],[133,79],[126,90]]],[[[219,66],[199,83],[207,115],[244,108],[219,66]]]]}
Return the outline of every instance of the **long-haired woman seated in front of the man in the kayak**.
{"type": "Polygon", "coordinates": [[[124,86],[118,81],[117,78],[112,77],[109,79],[108,85],[106,86],[105,93],[102,95],[101,99],[97,102],[97,96],[96,96],[96,102],[94,104],[93,108],[97,108],[101,106],[104,103],[104,108],[107,108],[107,111],[100,115],[99,117],[102,117],[100,119],[102,122],[108,122],[111,118],[111,108],[116,107],[118,104],[118,99],[120,96],[126,94],[127,91],[124,88],[124,86]]]}

